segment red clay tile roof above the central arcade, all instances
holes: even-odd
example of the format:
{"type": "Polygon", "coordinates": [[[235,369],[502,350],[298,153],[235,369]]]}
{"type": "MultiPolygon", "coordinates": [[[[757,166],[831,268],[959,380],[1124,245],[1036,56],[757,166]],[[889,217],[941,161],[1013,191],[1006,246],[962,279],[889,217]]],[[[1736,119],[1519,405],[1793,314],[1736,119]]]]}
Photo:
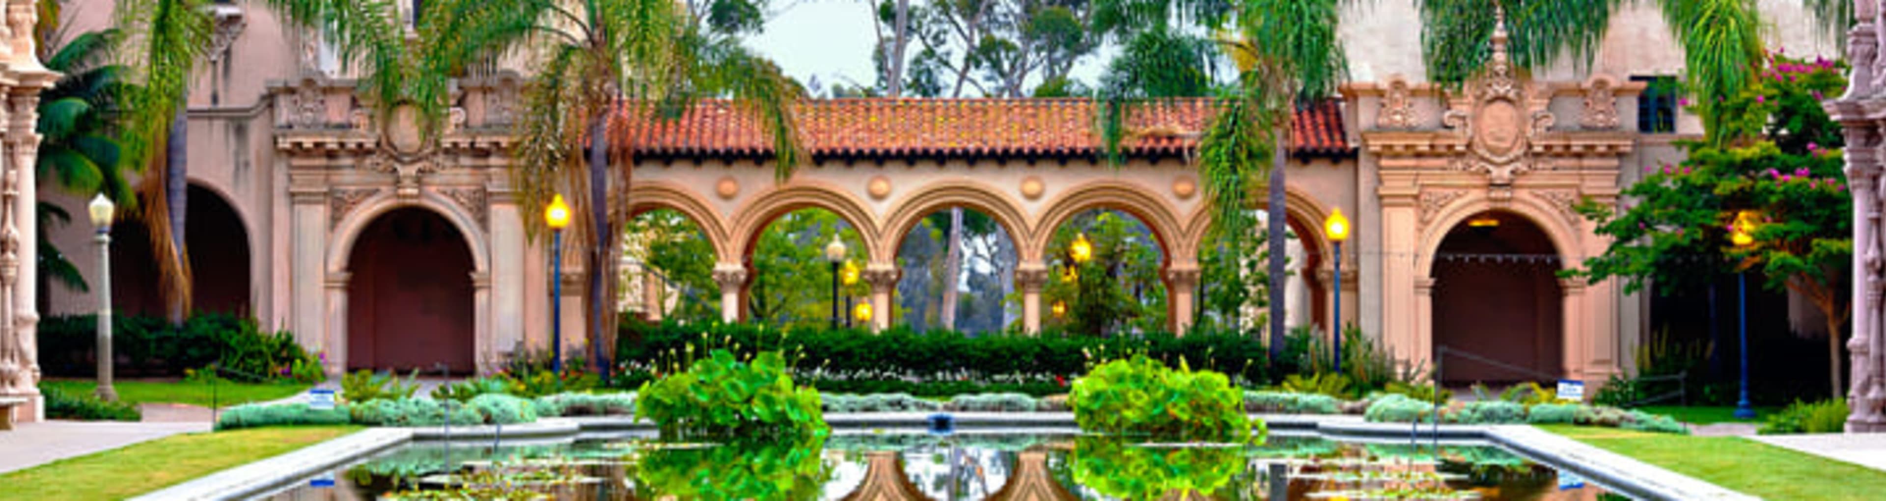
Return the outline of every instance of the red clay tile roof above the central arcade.
{"type": "MultiPolygon", "coordinates": [[[[1216,111],[1211,100],[1147,105],[1128,119],[1126,153],[1181,156],[1216,111]]],[[[747,113],[705,100],[673,121],[611,126],[617,143],[636,130],[637,154],[764,156],[771,141],[747,113]]],[[[1292,121],[1298,154],[1354,154],[1343,134],[1339,102],[1298,109],[1292,121]]],[[[896,156],[1094,156],[1098,134],[1092,100],[809,100],[800,105],[800,137],[815,158],[896,156]]]]}

